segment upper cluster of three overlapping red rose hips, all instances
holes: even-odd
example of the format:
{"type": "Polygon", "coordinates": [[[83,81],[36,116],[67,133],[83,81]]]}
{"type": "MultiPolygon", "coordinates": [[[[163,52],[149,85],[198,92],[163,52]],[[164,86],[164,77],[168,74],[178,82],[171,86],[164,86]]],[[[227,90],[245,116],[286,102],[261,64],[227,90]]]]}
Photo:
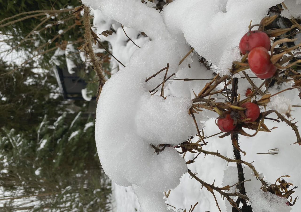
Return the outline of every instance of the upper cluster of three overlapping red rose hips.
{"type": "Polygon", "coordinates": [[[242,54],[248,55],[251,71],[260,79],[268,79],[276,72],[275,65],[271,62],[268,51],[271,41],[268,35],[262,31],[249,31],[240,40],[239,49],[242,54]]]}

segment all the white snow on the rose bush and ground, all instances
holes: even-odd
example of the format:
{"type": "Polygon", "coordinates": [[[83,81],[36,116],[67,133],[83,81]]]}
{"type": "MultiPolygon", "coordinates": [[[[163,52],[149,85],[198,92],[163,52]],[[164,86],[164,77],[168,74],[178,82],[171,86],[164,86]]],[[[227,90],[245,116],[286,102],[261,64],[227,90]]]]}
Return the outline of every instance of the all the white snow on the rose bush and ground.
{"type": "MultiPolygon", "coordinates": [[[[250,21],[253,20],[253,24],[259,23],[267,14],[268,8],[280,4],[281,1],[176,0],[169,3],[160,13],[134,0],[82,2],[95,9],[93,10],[94,26],[97,27],[95,33],[110,30],[111,27],[116,31],[112,36],[101,36],[101,39],[111,44],[110,50],[126,65],[123,68],[115,62],[112,66],[123,69],[113,74],[104,85],[98,101],[95,124],[95,139],[101,164],[106,174],[116,183],[113,184],[115,187],[113,195],[116,196],[113,211],[137,209],[141,212],[167,212],[169,209],[170,211],[187,209],[196,201],[200,204],[196,206],[195,211],[217,211],[210,193],[206,189],[199,191],[201,185],[196,180],[189,179],[189,175],[185,172],[189,168],[192,172],[199,173],[198,177],[207,182],[212,183],[215,179],[215,185],[233,185],[238,182],[235,164],[229,164],[230,167],[227,168],[224,160],[209,155],[203,158],[200,155],[195,163],[187,165],[185,161],[192,160],[195,154],[186,153],[183,159],[171,147],[166,147],[157,154],[150,145],[161,143],[176,145],[196,133],[194,122],[188,115],[190,99],[194,98],[193,92],[199,92],[208,81],[184,82],[174,79],[212,78],[213,71],[200,64],[198,55],[216,65],[218,67],[216,72],[228,74],[227,69],[231,68],[231,62],[240,59],[237,45],[248,31],[250,21]],[[126,33],[135,43],[137,42],[135,38],[139,38],[139,31],[146,33],[148,38],[140,37],[141,43],[136,43],[141,49],[128,41],[118,22],[124,26],[126,33]],[[195,51],[178,65],[191,47],[195,51]],[[172,73],[175,73],[175,76],[165,84],[164,100],[159,96],[161,87],[153,96],[149,90],[163,81],[165,71],[147,82],[145,79],[165,67],[167,63],[170,64],[167,76],[172,73]],[[131,186],[132,189],[121,186],[131,186]],[[163,192],[170,189],[172,191],[166,200],[163,192]],[[121,198],[127,197],[128,201],[118,200],[120,194],[121,198]],[[166,203],[175,206],[176,209],[167,207],[166,203]]],[[[260,79],[253,81],[257,86],[262,84],[260,79]]],[[[250,85],[246,79],[239,82],[239,93],[244,95],[250,85]]],[[[269,89],[269,92],[276,93],[281,89],[283,89],[281,86],[276,85],[269,89]]],[[[279,100],[280,104],[276,104],[277,99],[272,99],[269,106],[274,107],[274,102],[277,109],[286,112],[289,105],[298,104],[298,98],[295,98],[298,95],[297,90],[292,91],[291,95],[285,94],[287,99],[279,100]]],[[[299,108],[294,109],[292,116],[301,118],[298,116],[299,108]]],[[[276,118],[273,114],[269,117],[276,118]]],[[[196,118],[200,128],[204,128],[205,135],[220,132],[214,122],[216,115],[201,112],[196,118]]],[[[256,159],[254,162],[256,169],[264,173],[266,180],[275,182],[275,179],[283,174],[296,173],[291,170],[291,166],[299,170],[300,165],[297,162],[299,148],[289,145],[294,143],[296,138],[290,128],[286,128],[285,123],[265,120],[265,124],[268,128],[278,126],[279,129],[285,130],[276,129],[268,135],[267,132],[259,132],[252,138],[240,136],[240,144],[243,150],[247,150],[243,160],[251,162],[256,159]],[[276,155],[256,155],[274,148],[280,150],[276,155]],[[287,155],[296,159],[290,161],[293,164],[291,166],[281,162],[287,155]]],[[[216,136],[206,141],[209,142],[206,150],[219,150],[222,155],[233,157],[229,137],[220,139],[216,136]]],[[[265,201],[264,198],[269,198],[274,201],[275,207],[281,208],[282,202],[277,198],[259,193],[259,181],[256,181],[250,169],[244,170],[246,179],[251,179],[245,185],[248,195],[253,195],[252,206],[256,207],[257,199],[254,198],[258,198],[261,202],[265,201]]],[[[301,183],[297,173],[292,175],[290,182],[296,185],[301,183]]],[[[231,211],[228,203],[218,201],[222,211],[231,211]]],[[[298,205],[297,202],[294,207],[298,208],[298,205]]],[[[286,212],[290,207],[284,206],[286,212]]]]}

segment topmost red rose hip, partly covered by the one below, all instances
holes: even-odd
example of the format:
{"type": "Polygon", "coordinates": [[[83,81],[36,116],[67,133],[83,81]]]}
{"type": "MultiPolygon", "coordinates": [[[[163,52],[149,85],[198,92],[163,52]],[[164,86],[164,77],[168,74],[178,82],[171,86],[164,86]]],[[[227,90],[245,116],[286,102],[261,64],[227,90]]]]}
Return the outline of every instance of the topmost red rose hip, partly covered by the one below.
{"type": "Polygon", "coordinates": [[[247,32],[239,42],[239,49],[243,54],[246,54],[259,46],[264,47],[266,50],[270,50],[271,41],[266,33],[258,30],[247,32]]]}

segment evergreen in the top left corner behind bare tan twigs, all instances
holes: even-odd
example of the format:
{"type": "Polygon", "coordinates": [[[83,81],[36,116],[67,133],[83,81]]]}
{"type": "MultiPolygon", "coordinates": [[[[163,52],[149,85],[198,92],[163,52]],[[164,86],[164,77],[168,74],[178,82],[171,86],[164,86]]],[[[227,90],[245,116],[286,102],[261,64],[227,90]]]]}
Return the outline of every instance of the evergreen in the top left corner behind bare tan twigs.
{"type": "MultiPolygon", "coordinates": [[[[67,44],[82,37],[84,31],[81,28],[79,14],[70,15],[74,10],[72,8],[78,6],[81,6],[78,0],[0,0],[1,33],[8,35],[5,42],[9,46],[17,51],[23,50],[25,55],[31,57],[33,52],[42,53],[45,49],[67,44]],[[31,11],[39,12],[28,13],[31,11]],[[18,16],[11,18],[16,15],[18,16]]],[[[53,51],[43,53],[39,59],[42,68],[52,66],[49,63],[52,55],[53,51]]]]}

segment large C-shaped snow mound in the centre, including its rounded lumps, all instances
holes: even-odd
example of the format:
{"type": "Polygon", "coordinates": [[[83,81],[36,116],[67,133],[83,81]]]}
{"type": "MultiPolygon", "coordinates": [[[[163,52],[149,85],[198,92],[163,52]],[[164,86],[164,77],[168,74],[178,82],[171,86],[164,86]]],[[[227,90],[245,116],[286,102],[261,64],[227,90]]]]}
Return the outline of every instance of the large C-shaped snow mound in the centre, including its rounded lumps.
{"type": "MultiPolygon", "coordinates": [[[[147,77],[165,67],[167,62],[172,64],[170,69],[176,72],[178,69],[176,64],[189,51],[188,46],[185,48],[185,45],[183,43],[183,48],[178,49],[173,42],[171,44],[161,43],[161,41],[145,43],[142,49],[133,53],[129,65],[114,74],[103,87],[96,113],[96,144],[104,171],[118,185],[135,184],[144,189],[163,192],[175,188],[179,184],[179,178],[186,172],[185,161],[174,149],[167,147],[159,155],[153,154],[154,149],[150,147],[150,144],[158,143],[158,141],[148,139],[153,138],[154,133],[158,133],[155,130],[159,127],[148,128],[147,123],[141,123],[139,120],[139,117],[146,115],[152,118],[158,126],[171,126],[161,130],[157,138],[168,134],[174,138],[173,144],[181,143],[194,133],[193,120],[188,115],[188,106],[191,101],[187,98],[172,96],[164,101],[163,97],[151,96],[148,90],[162,82],[163,73],[145,83],[147,77]],[[154,49],[157,49],[159,53],[152,59],[147,59],[154,49]],[[145,58],[145,63],[142,65],[138,63],[141,56],[145,58]],[[153,63],[153,60],[157,62],[153,63]],[[159,111],[152,110],[153,114],[151,114],[144,106],[147,108],[154,106],[159,111]],[[164,111],[167,114],[172,114],[173,111],[176,115],[167,117],[164,111]],[[163,117],[160,119],[159,115],[163,117]],[[139,126],[140,124],[142,125],[139,126]],[[182,126],[185,127],[185,131],[182,131],[182,126]],[[150,132],[145,131],[143,134],[143,129],[150,132]],[[126,152],[132,152],[132,147],[135,147],[135,153],[126,154],[126,152]],[[164,161],[169,161],[169,163],[165,164],[164,161]]],[[[152,123],[152,126],[154,125],[152,123]]],[[[136,191],[140,190],[136,189],[136,191]]],[[[161,193],[163,201],[162,197],[161,193]]],[[[161,211],[164,210],[166,210],[166,205],[165,209],[161,209],[161,211]]]]}

